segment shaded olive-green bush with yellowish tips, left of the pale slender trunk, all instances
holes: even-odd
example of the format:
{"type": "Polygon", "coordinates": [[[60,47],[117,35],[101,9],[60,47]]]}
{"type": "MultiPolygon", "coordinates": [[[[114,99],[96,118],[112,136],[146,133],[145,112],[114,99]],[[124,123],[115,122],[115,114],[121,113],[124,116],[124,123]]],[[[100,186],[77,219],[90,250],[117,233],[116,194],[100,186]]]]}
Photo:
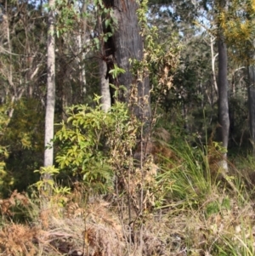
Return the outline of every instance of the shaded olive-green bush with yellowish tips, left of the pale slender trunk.
{"type": "Polygon", "coordinates": [[[3,135],[0,145],[3,145],[5,155],[5,173],[1,186],[3,196],[7,196],[13,188],[26,190],[38,176],[33,171],[42,166],[43,152],[43,113],[37,100],[18,101],[14,106],[11,119],[3,111],[6,124],[3,124],[3,135]],[[8,154],[7,154],[8,153],[8,154]]]}

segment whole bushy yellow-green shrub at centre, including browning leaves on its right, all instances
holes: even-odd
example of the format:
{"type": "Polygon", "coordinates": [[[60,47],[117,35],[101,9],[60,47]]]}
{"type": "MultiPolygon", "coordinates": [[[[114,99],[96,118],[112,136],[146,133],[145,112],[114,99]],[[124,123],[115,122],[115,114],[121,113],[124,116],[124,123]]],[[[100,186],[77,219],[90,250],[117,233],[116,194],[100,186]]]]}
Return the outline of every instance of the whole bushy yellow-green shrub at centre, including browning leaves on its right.
{"type": "Polygon", "coordinates": [[[56,162],[61,173],[82,178],[88,188],[102,192],[112,188],[111,156],[118,157],[114,154],[119,147],[124,153],[123,145],[129,143],[130,117],[127,106],[122,103],[116,103],[105,113],[99,97],[94,101],[95,108],[76,105],[67,110],[67,122],[59,124],[55,136],[59,148],[56,162]]]}

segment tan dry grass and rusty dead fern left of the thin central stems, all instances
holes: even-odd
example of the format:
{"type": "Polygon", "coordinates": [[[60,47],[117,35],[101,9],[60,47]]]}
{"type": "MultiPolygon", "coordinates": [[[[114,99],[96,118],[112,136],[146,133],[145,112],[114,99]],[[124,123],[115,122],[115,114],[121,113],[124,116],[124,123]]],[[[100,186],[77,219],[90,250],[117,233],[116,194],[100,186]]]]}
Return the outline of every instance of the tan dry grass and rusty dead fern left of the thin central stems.
{"type": "Polygon", "coordinates": [[[32,227],[5,223],[0,230],[0,255],[120,256],[125,247],[122,225],[108,203],[97,201],[86,208],[77,202],[61,211],[57,206],[38,214],[32,227]]]}

